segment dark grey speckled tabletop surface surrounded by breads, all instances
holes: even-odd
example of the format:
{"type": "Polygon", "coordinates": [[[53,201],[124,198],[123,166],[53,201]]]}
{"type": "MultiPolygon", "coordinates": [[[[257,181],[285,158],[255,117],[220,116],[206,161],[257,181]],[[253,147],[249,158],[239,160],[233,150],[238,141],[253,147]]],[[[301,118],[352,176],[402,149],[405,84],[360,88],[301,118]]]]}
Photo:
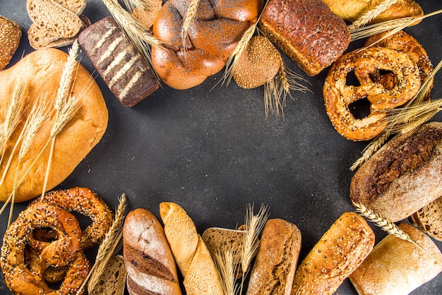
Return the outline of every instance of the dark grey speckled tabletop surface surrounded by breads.
{"type": "MultiPolygon", "coordinates": [[[[426,13],[441,8],[438,1],[418,2],[426,13]]],[[[89,0],[84,14],[96,22],[109,13],[101,1],[89,0]]],[[[32,22],[25,1],[1,1],[0,15],[23,28],[15,63],[32,51],[26,37],[32,22]]],[[[427,18],[407,32],[438,64],[442,16],[427,18]]],[[[350,44],[350,49],[360,45],[350,44]]],[[[162,85],[135,107],[124,107],[82,52],[81,62],[95,71],[107,102],[109,126],[102,141],[59,188],[88,186],[111,207],[126,193],[129,209],[145,207],[157,217],[160,202],[176,202],[200,234],[208,227],[237,227],[244,222],[247,204],[254,203],[257,210],[263,203],[269,206],[270,217],[286,219],[301,230],[300,262],[343,212],[353,210],[349,168],[366,143],[345,140],[331,125],[322,97],[326,70],[307,77],[283,57],[289,68],[309,80],[311,93],[292,92],[284,119],[277,119],[265,118],[263,88],[245,90],[233,82],[216,85],[221,73],[189,90],[162,85]]],[[[442,98],[441,75],[435,79],[434,99],[442,98]]],[[[441,114],[436,120],[442,120],[441,114]]],[[[16,205],[14,218],[25,205],[16,205]]],[[[2,233],[7,215],[0,216],[2,233]]],[[[385,236],[374,230],[376,239],[385,236]]],[[[441,242],[437,244],[442,248],[441,242]]],[[[439,275],[413,294],[440,294],[441,289],[439,275]]],[[[0,294],[8,294],[3,280],[0,294]]],[[[338,294],[356,292],[347,279],[338,294]]]]}

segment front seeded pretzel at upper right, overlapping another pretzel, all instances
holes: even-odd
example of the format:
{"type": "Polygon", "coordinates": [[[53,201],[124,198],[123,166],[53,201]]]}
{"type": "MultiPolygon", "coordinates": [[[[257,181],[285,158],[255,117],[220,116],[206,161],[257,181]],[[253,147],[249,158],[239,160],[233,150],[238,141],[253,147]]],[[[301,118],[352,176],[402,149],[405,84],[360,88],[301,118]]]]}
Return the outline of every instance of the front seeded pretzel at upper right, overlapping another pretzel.
{"type": "Polygon", "coordinates": [[[419,68],[409,54],[385,47],[370,47],[342,55],[330,68],[323,87],[325,109],[341,136],[369,140],[386,128],[386,110],[399,107],[417,94],[419,68]],[[393,73],[393,85],[375,82],[374,73],[393,73]],[[360,85],[347,85],[354,72],[360,85]],[[350,104],[366,99],[370,114],[362,119],[350,112],[350,104]]]}

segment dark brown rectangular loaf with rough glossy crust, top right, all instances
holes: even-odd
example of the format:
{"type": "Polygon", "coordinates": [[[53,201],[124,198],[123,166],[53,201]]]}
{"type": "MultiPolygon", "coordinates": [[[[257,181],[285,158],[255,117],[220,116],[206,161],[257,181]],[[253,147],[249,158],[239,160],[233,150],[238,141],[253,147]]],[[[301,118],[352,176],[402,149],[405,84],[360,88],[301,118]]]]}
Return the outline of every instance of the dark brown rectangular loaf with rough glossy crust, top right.
{"type": "Polygon", "coordinates": [[[344,20],[322,0],[270,0],[259,25],[309,76],[330,66],[350,44],[344,20]]]}

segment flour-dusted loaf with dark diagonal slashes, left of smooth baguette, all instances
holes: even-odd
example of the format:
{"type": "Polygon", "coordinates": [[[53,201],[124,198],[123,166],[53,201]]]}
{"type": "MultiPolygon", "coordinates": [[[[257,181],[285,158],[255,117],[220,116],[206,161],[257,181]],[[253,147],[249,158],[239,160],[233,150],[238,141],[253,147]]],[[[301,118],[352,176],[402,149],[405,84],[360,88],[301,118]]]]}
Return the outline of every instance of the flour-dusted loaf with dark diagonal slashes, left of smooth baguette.
{"type": "Polygon", "coordinates": [[[180,295],[177,266],[158,219],[148,210],[129,212],[123,226],[129,294],[180,295]]]}

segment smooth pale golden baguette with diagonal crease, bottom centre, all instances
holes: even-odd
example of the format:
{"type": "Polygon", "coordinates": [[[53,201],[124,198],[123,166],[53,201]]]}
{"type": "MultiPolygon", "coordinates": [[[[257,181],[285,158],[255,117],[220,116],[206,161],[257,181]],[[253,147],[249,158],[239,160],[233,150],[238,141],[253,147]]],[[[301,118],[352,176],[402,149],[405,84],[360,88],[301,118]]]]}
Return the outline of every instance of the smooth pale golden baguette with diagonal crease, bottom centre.
{"type": "Polygon", "coordinates": [[[165,234],[181,274],[188,295],[222,294],[220,275],[212,256],[195,224],[176,203],[160,204],[165,234]]]}

